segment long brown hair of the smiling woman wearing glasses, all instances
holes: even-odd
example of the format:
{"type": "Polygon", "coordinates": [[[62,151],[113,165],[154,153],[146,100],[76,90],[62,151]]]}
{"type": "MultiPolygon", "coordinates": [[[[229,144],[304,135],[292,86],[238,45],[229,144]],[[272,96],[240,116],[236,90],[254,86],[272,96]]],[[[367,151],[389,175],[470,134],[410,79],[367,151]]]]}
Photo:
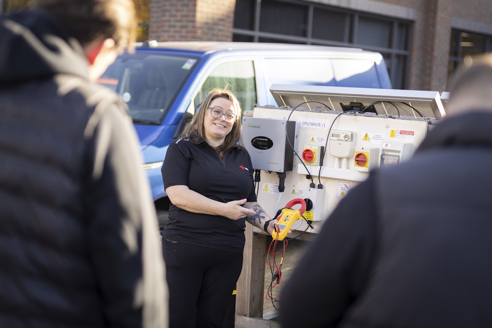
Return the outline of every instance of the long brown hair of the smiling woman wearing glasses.
{"type": "Polygon", "coordinates": [[[196,143],[198,142],[198,140],[193,138],[193,135],[196,135],[202,140],[207,140],[205,136],[204,126],[205,115],[210,115],[208,111],[210,103],[214,99],[220,97],[229,99],[232,102],[232,108],[234,114],[236,114],[236,120],[234,121],[231,132],[229,132],[229,134],[225,137],[224,144],[217,147],[216,149],[218,152],[222,152],[231,147],[238,146],[238,144],[241,142],[241,104],[231,90],[222,88],[211,89],[208,92],[205,99],[203,99],[197,113],[184,128],[183,133],[181,134],[181,138],[189,137],[190,141],[196,143]]]}

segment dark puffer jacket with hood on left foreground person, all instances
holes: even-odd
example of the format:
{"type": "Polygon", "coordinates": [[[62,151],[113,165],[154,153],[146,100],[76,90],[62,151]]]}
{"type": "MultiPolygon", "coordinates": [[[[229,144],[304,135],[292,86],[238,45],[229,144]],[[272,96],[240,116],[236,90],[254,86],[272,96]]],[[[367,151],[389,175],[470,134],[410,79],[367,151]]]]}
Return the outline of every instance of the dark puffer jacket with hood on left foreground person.
{"type": "Polygon", "coordinates": [[[0,327],[167,326],[137,138],[87,69],[47,15],[0,18],[0,327]]]}

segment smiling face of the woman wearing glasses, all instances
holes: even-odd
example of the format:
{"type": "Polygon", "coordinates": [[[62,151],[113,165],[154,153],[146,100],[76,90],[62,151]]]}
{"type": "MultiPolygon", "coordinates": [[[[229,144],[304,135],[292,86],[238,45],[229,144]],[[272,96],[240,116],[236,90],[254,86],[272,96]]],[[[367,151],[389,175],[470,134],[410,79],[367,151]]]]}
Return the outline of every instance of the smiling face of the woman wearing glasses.
{"type": "Polygon", "coordinates": [[[206,109],[207,112],[204,117],[205,136],[209,145],[217,147],[224,143],[224,139],[231,132],[234,122],[227,122],[223,115],[219,119],[213,118],[210,113],[211,107],[221,110],[224,114],[235,114],[235,112],[232,101],[223,97],[212,100],[209,108],[206,109]]]}

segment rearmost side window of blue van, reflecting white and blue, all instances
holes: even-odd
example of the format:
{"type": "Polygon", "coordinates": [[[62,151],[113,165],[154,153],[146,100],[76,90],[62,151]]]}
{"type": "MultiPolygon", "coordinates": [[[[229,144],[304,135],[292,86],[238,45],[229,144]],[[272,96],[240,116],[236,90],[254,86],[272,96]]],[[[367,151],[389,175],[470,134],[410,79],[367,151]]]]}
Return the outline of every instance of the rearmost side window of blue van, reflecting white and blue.
{"type": "Polygon", "coordinates": [[[376,65],[372,60],[333,59],[337,87],[381,88],[376,65]]]}

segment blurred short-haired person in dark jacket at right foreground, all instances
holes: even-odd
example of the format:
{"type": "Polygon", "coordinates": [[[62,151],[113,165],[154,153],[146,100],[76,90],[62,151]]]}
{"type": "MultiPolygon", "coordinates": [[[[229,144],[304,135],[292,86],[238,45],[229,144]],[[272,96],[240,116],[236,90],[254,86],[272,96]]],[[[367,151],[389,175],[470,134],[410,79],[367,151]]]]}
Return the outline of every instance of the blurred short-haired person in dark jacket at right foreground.
{"type": "Polygon", "coordinates": [[[465,63],[414,156],[323,224],[282,291],[283,328],[492,327],[492,56],[465,63]]]}

